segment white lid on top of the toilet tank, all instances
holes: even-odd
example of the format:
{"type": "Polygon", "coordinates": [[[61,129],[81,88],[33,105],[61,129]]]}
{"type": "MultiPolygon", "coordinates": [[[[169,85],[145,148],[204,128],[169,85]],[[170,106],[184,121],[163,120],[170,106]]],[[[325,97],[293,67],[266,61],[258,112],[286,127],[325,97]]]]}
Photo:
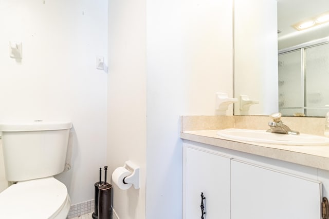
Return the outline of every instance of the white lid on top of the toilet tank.
{"type": "Polygon", "coordinates": [[[71,122],[50,122],[36,120],[32,122],[0,123],[0,131],[2,132],[46,131],[70,128],[72,128],[71,122]]]}

